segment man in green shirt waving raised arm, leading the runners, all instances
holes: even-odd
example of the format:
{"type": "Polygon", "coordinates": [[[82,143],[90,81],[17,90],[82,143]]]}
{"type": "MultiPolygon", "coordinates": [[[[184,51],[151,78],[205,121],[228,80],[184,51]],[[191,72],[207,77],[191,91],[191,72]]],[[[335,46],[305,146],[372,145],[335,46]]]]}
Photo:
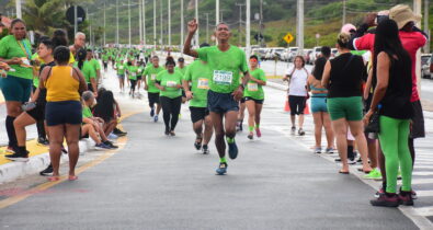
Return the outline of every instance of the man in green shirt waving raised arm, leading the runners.
{"type": "Polygon", "coordinates": [[[217,174],[227,173],[226,142],[228,143],[228,154],[231,159],[238,157],[238,147],[235,142],[236,122],[239,113],[238,101],[242,99],[243,90],[250,79],[248,72],[247,58],[243,50],[229,44],[231,36],[230,28],[225,23],[216,26],[215,35],[218,46],[191,49],[191,41],[197,31],[197,22],[194,19],[189,22],[189,34],[185,41],[183,53],[203,61],[206,61],[213,71],[209,81],[209,92],[207,105],[210,111],[212,122],[215,128],[215,146],[220,158],[217,174]],[[243,82],[239,83],[240,72],[243,72],[243,82]],[[225,123],[223,122],[225,118],[225,123]],[[225,130],[226,129],[226,130],[225,130]]]}

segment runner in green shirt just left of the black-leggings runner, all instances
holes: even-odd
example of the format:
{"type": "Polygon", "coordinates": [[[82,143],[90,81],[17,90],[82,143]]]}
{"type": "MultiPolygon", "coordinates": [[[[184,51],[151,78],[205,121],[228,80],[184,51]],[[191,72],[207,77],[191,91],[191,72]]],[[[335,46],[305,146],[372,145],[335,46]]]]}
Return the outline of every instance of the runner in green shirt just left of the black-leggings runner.
{"type": "Polygon", "coordinates": [[[149,99],[150,106],[150,117],[158,122],[159,112],[161,112],[161,105],[159,103],[159,89],[155,85],[157,80],[157,74],[164,70],[163,67],[159,66],[158,56],[153,56],[151,59],[152,65],[146,67],[145,72],[143,73],[145,81],[145,90],[147,90],[147,95],[149,99]],[[157,113],[155,113],[155,104],[157,104],[157,113]]]}

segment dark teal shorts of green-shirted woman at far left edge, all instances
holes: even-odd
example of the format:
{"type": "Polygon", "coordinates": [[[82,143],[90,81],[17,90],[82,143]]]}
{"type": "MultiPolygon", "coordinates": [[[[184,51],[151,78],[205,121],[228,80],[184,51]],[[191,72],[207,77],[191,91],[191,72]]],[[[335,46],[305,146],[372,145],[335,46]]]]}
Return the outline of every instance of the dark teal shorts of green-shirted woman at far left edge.
{"type": "Polygon", "coordinates": [[[33,80],[8,76],[0,78],[0,88],[7,102],[27,102],[33,80]]]}

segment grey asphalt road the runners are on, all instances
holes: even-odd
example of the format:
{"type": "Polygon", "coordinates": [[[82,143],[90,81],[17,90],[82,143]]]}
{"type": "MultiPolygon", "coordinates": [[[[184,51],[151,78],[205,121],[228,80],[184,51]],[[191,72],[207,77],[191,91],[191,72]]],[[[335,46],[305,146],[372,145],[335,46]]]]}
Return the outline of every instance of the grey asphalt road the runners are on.
{"type": "MultiPolygon", "coordinates": [[[[116,96],[123,105],[137,104],[116,96]]],[[[0,209],[0,228],[417,229],[399,209],[372,207],[375,191],[357,177],[338,174],[337,164],[287,138],[283,103],[281,91],[266,89],[263,137],[250,141],[238,135],[240,154],[225,176],[215,175],[214,145],[209,156],[193,148],[186,106],[171,138],[146,108],[123,122],[124,149],[76,182],[0,209]]]]}

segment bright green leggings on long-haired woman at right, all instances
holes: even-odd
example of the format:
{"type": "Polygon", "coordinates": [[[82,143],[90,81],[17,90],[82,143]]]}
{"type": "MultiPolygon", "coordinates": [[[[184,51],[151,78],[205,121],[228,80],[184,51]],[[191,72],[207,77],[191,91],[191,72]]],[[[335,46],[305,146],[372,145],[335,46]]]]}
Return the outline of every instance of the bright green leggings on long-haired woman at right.
{"type": "Polygon", "coordinates": [[[411,191],[412,158],[409,152],[409,119],[395,119],[380,116],[379,141],[385,156],[386,192],[396,193],[397,174],[400,162],[402,187],[401,191],[411,191]]]}

